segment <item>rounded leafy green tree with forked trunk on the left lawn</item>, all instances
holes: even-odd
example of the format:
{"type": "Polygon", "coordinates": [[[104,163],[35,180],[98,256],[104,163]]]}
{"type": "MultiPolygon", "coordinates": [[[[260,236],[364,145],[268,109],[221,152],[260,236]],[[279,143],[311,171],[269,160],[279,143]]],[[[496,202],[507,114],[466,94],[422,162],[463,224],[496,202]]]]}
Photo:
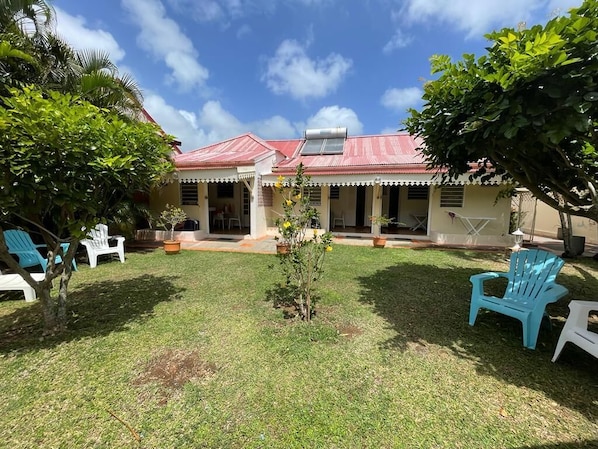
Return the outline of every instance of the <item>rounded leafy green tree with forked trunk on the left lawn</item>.
{"type": "MultiPolygon", "coordinates": [[[[41,230],[50,255],[61,251],[60,243],[71,243],[62,255],[64,264],[55,266],[50,257],[47,282],[34,286],[44,304],[46,327],[60,329],[66,324],[70,262],[85,228],[173,169],[170,137],[154,124],[124,120],[70,94],[33,87],[10,93],[0,108],[2,226],[19,221],[41,230]],[[50,298],[50,281],[60,275],[59,297],[50,298]]],[[[0,257],[28,278],[3,241],[0,257]]]]}

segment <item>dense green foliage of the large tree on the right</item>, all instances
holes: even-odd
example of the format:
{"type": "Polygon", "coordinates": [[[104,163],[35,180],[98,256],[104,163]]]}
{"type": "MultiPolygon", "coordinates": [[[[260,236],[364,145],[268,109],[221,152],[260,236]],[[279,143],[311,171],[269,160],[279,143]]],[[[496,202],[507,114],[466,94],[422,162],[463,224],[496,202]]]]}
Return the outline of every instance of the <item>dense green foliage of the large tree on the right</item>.
{"type": "Polygon", "coordinates": [[[430,167],[527,187],[552,207],[598,218],[598,2],[545,26],[487,35],[487,54],[431,59],[439,74],[405,121],[430,167]]]}

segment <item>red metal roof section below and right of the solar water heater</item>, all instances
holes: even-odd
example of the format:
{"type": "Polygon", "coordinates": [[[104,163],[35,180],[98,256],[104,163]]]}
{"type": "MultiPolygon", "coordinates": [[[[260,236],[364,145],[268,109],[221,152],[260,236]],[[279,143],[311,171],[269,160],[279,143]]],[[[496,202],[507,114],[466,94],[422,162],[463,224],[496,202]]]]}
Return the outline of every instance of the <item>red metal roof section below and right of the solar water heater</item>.
{"type": "Polygon", "coordinates": [[[421,145],[421,139],[409,134],[348,137],[342,154],[302,156],[300,145],[272,171],[292,174],[303,163],[308,174],[426,173],[426,159],[417,150],[421,145]]]}

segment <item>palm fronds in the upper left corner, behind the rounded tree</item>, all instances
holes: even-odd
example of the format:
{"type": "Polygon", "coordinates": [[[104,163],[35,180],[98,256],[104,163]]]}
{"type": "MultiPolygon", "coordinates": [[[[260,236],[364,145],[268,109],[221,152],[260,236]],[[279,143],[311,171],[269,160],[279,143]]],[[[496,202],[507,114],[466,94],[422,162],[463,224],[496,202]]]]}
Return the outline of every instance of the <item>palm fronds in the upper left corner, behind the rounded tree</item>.
{"type": "Polygon", "coordinates": [[[75,51],[54,33],[53,15],[42,0],[0,0],[0,95],[35,84],[137,118],[143,96],[136,81],[106,52],[75,51]]]}

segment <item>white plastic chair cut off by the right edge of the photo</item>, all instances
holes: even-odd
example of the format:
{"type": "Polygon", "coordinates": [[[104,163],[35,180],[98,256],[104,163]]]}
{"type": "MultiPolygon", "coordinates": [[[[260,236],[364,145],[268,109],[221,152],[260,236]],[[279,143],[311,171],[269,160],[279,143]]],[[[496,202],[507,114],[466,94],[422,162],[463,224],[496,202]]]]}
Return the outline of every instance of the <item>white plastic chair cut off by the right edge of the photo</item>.
{"type": "Polygon", "coordinates": [[[598,358],[598,334],[588,330],[590,312],[598,310],[598,301],[571,301],[569,309],[571,312],[556,344],[552,361],[556,362],[568,341],[598,358]]]}

